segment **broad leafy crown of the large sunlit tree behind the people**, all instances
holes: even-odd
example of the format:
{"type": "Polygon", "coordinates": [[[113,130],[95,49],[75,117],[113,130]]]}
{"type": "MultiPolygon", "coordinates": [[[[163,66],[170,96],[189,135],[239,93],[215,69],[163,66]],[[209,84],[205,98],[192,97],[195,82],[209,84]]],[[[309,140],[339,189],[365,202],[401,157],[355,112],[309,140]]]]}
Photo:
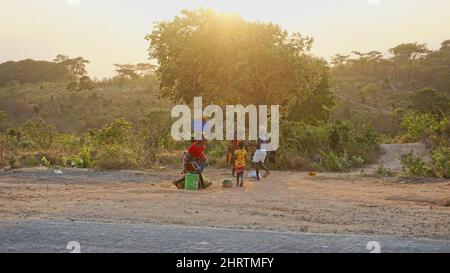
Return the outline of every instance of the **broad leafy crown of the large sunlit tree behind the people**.
{"type": "Polygon", "coordinates": [[[279,104],[287,115],[316,91],[331,94],[323,88],[326,63],[309,54],[312,39],[275,24],[184,10],[147,39],[162,95],[174,102],[202,96],[219,105],[279,104]]]}

